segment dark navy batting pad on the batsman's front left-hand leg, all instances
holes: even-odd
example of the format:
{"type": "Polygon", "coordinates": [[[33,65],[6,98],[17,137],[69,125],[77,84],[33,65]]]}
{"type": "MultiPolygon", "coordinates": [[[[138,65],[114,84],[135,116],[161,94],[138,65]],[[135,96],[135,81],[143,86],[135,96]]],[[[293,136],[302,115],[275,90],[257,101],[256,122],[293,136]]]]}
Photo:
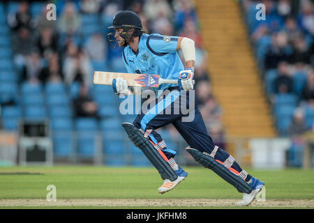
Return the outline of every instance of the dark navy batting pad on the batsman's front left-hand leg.
{"type": "Polygon", "coordinates": [[[156,148],[144,137],[144,134],[131,123],[122,123],[122,127],[126,130],[128,137],[133,144],[140,148],[144,155],[149,159],[151,164],[158,170],[163,180],[177,180],[178,176],[170,167],[170,164],[158,153],[156,148]]]}

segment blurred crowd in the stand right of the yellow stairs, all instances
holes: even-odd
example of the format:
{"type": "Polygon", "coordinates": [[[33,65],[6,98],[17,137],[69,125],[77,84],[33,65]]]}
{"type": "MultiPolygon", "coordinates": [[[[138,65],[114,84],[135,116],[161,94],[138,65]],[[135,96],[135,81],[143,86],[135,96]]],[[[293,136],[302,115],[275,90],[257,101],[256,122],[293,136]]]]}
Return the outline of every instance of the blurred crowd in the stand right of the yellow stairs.
{"type": "Polygon", "coordinates": [[[241,3],[275,118],[280,118],[276,117],[278,98],[297,98],[290,122],[279,133],[293,137],[314,130],[314,1],[241,3]],[[265,20],[255,17],[257,3],[265,6],[265,20]]]}

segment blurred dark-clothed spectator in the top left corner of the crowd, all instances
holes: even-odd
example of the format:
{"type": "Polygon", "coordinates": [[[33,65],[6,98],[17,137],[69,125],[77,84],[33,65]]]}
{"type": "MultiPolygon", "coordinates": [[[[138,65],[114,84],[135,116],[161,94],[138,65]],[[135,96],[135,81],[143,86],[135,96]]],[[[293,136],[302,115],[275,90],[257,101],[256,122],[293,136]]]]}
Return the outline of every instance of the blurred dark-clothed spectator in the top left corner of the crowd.
{"type": "Polygon", "coordinates": [[[29,12],[29,3],[22,1],[16,13],[8,14],[8,25],[15,33],[24,27],[31,30],[33,28],[33,21],[31,20],[31,13],[29,12]]]}

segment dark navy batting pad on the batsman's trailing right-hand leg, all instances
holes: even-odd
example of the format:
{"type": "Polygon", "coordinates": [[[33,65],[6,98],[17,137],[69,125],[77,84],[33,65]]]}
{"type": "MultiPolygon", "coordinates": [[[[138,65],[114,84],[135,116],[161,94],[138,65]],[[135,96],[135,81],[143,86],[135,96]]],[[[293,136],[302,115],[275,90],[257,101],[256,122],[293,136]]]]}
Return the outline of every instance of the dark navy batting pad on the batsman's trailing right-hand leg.
{"type": "Polygon", "coordinates": [[[214,157],[211,157],[210,155],[201,153],[200,151],[197,151],[195,148],[186,148],[186,151],[190,153],[190,155],[193,156],[195,161],[202,164],[204,167],[211,169],[214,171],[218,176],[223,178],[227,181],[227,183],[230,183],[240,193],[246,193],[250,194],[252,192],[252,187],[246,183],[245,180],[237,176],[236,174],[232,173],[229,169],[227,169],[223,164],[220,164],[217,162],[214,157]]]}

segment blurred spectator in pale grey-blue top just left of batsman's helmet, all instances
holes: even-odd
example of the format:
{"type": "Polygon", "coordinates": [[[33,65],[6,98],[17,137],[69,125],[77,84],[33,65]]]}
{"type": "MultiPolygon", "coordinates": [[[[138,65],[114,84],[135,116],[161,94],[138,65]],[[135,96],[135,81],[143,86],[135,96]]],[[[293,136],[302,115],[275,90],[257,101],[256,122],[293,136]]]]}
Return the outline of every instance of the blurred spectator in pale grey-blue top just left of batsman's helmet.
{"type": "Polygon", "coordinates": [[[107,58],[107,44],[100,33],[94,33],[85,44],[84,48],[92,61],[105,61],[107,58]]]}

